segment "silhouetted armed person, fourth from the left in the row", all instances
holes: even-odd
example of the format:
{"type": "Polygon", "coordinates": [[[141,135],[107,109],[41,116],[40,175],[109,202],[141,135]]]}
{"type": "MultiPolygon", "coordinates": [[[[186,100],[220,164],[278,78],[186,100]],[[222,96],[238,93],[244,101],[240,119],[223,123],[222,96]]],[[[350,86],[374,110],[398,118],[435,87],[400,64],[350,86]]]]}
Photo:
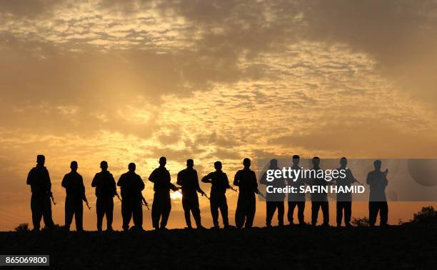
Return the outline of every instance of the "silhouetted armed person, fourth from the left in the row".
{"type": "Polygon", "coordinates": [[[144,189],[144,181],[141,176],[135,173],[136,165],[134,163],[130,163],[128,168],[129,171],[121,174],[117,182],[117,186],[121,188],[122,228],[127,231],[133,217],[135,228],[143,230],[143,205],[141,204],[143,195],[141,191],[144,189]]]}

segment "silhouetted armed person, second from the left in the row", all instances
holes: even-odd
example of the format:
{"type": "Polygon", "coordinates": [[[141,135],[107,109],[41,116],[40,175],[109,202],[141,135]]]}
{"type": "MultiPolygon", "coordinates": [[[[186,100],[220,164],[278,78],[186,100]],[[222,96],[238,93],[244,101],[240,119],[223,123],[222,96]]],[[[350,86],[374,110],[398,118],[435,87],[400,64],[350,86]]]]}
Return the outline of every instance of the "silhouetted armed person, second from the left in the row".
{"type": "Polygon", "coordinates": [[[69,230],[71,221],[76,221],[76,231],[84,231],[84,205],[82,201],[88,202],[85,195],[84,179],[77,172],[77,162],[71,161],[71,172],[62,179],[62,186],[65,188],[65,229],[69,230]]]}

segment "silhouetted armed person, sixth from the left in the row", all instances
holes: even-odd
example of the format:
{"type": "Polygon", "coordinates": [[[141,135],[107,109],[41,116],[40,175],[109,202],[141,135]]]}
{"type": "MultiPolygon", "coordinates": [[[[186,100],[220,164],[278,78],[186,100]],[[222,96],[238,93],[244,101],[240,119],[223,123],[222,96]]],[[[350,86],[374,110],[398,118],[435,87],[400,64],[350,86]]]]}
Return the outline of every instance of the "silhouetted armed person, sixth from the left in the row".
{"type": "Polygon", "coordinates": [[[194,221],[196,221],[196,227],[198,229],[204,228],[201,224],[201,216],[199,209],[199,197],[197,192],[205,194],[199,186],[199,177],[197,171],[194,169],[193,159],[186,161],[186,169],[179,171],[178,181],[176,184],[182,186],[182,207],[184,208],[186,226],[191,229],[191,216],[190,211],[193,214],[194,221]]]}

